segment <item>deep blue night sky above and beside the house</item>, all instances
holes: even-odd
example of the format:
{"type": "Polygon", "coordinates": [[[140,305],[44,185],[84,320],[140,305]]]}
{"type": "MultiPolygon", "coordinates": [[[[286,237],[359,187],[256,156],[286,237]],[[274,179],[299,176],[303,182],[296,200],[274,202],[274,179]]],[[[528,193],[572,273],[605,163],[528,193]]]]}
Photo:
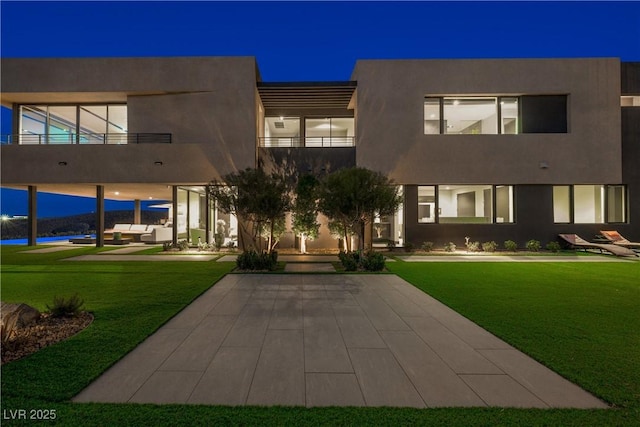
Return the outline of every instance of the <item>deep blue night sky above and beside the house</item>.
{"type": "MultiPolygon", "coordinates": [[[[349,80],[357,59],[640,61],[640,2],[2,1],[0,9],[3,57],[255,56],[265,81],[349,80]]],[[[0,134],[9,133],[2,108],[0,134]]],[[[24,192],[0,196],[2,214],[26,212],[24,192]]],[[[38,198],[40,217],[94,209],[93,199],[38,198]]]]}

